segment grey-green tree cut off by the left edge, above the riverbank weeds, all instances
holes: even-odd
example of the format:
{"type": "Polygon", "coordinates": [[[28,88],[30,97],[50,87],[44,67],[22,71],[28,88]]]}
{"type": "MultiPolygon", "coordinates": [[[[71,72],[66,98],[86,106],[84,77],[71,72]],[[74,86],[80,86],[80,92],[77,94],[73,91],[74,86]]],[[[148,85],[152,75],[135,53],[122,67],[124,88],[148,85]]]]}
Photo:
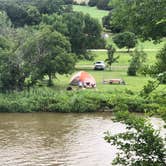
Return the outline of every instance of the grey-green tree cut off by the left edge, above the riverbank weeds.
{"type": "Polygon", "coordinates": [[[15,44],[0,36],[0,90],[22,90],[24,80],[23,63],[15,52],[15,44]]]}

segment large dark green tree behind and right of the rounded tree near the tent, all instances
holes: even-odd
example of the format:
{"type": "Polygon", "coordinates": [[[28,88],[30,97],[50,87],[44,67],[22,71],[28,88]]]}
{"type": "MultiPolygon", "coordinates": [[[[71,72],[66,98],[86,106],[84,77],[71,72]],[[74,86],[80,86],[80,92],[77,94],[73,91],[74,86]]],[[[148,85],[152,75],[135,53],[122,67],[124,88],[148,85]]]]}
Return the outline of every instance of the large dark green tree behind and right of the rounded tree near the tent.
{"type": "Polygon", "coordinates": [[[101,25],[89,15],[78,12],[44,15],[41,24],[51,25],[54,30],[68,37],[72,52],[79,57],[85,55],[87,49],[105,47],[101,25]]]}

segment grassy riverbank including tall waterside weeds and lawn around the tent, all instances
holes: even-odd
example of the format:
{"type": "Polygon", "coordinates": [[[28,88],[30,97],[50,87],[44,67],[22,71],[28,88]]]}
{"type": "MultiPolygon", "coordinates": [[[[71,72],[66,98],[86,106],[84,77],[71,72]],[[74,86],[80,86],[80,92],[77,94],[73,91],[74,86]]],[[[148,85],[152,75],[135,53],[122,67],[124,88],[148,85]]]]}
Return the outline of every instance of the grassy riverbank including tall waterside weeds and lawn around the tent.
{"type": "MultiPolygon", "coordinates": [[[[95,112],[99,110],[116,110],[127,108],[133,112],[153,112],[166,108],[165,85],[160,85],[156,91],[145,99],[139,95],[150,77],[140,74],[127,76],[130,55],[118,51],[118,63],[113,64],[112,70],[93,70],[93,63],[105,60],[106,51],[94,51],[93,61],[81,60],[76,65],[76,71],[88,71],[96,79],[96,90],[66,91],[71,75],[57,75],[52,88],[46,87],[46,81],[41,82],[41,87],[31,88],[30,92],[14,92],[0,94],[0,112],[95,112]],[[103,79],[122,78],[126,85],[103,84],[103,79]]],[[[156,51],[146,51],[147,64],[155,63],[156,51]]]]}

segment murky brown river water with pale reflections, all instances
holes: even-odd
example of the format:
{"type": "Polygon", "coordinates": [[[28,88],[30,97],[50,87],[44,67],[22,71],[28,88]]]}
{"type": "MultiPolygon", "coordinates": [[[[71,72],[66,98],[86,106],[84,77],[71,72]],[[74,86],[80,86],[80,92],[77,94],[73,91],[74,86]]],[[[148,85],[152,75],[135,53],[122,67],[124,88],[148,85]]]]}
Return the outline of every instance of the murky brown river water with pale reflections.
{"type": "Polygon", "coordinates": [[[110,113],[0,114],[0,165],[111,165],[116,148],[104,141],[103,132],[124,129],[110,113]]]}

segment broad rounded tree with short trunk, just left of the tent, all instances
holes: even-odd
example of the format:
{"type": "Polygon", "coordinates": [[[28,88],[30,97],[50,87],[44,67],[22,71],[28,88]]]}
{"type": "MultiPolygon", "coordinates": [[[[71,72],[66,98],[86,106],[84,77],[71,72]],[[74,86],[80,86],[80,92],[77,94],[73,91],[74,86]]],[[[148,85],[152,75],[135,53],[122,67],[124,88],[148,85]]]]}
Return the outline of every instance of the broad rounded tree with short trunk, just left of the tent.
{"type": "Polygon", "coordinates": [[[30,75],[36,79],[48,76],[48,85],[52,77],[71,73],[75,66],[75,56],[71,53],[69,41],[52,27],[42,27],[22,48],[25,65],[31,69],[30,75]]]}

